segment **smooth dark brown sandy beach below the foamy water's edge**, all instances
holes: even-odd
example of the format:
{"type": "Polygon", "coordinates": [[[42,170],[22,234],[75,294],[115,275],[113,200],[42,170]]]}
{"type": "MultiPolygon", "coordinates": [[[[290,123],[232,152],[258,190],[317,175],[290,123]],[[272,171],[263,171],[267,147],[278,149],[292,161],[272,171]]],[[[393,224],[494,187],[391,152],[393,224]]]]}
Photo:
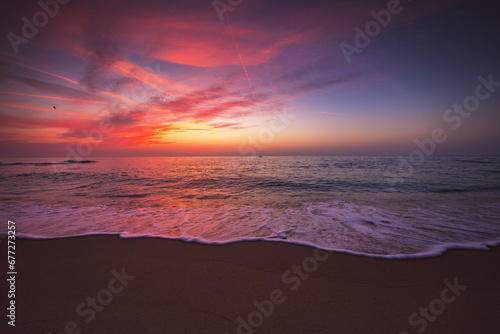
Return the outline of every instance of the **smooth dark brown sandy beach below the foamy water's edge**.
{"type": "Polygon", "coordinates": [[[498,333],[499,258],[500,248],[385,260],[281,242],[18,239],[8,332],[498,333]]]}

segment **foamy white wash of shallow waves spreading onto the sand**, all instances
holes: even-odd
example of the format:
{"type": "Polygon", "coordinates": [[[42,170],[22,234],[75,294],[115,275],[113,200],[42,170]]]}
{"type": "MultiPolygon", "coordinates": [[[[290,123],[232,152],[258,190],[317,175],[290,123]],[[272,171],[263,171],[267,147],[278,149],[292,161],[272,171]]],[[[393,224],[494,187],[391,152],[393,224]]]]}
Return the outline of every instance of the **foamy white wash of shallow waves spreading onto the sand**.
{"type": "MultiPolygon", "coordinates": [[[[247,240],[290,242],[371,257],[428,257],[450,248],[487,249],[500,244],[498,206],[441,205],[398,211],[340,201],[289,208],[64,207],[11,203],[0,219],[16,222],[25,238],[119,234],[206,244],[247,240]],[[13,219],[13,217],[19,217],[13,219]]],[[[2,230],[6,233],[6,230],[2,230]]]]}

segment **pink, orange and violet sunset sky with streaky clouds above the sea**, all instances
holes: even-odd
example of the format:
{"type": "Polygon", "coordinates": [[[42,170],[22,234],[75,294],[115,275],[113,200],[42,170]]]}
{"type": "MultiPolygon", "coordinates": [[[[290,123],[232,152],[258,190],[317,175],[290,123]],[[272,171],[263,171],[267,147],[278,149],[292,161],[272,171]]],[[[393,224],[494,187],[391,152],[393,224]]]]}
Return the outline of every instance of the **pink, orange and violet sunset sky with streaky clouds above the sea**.
{"type": "Polygon", "coordinates": [[[0,157],[498,155],[498,17],[483,0],[10,2],[0,157]]]}

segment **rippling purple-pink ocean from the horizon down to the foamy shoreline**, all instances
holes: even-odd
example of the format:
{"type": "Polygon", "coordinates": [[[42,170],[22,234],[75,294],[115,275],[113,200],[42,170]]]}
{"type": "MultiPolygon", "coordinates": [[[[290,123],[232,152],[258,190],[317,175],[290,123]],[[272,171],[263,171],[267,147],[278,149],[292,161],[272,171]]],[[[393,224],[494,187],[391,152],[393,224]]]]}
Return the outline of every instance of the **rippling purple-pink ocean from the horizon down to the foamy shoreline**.
{"type": "Polygon", "coordinates": [[[267,240],[373,257],[500,244],[500,157],[0,160],[0,233],[267,240]],[[397,177],[394,177],[397,175],[397,177]]]}

